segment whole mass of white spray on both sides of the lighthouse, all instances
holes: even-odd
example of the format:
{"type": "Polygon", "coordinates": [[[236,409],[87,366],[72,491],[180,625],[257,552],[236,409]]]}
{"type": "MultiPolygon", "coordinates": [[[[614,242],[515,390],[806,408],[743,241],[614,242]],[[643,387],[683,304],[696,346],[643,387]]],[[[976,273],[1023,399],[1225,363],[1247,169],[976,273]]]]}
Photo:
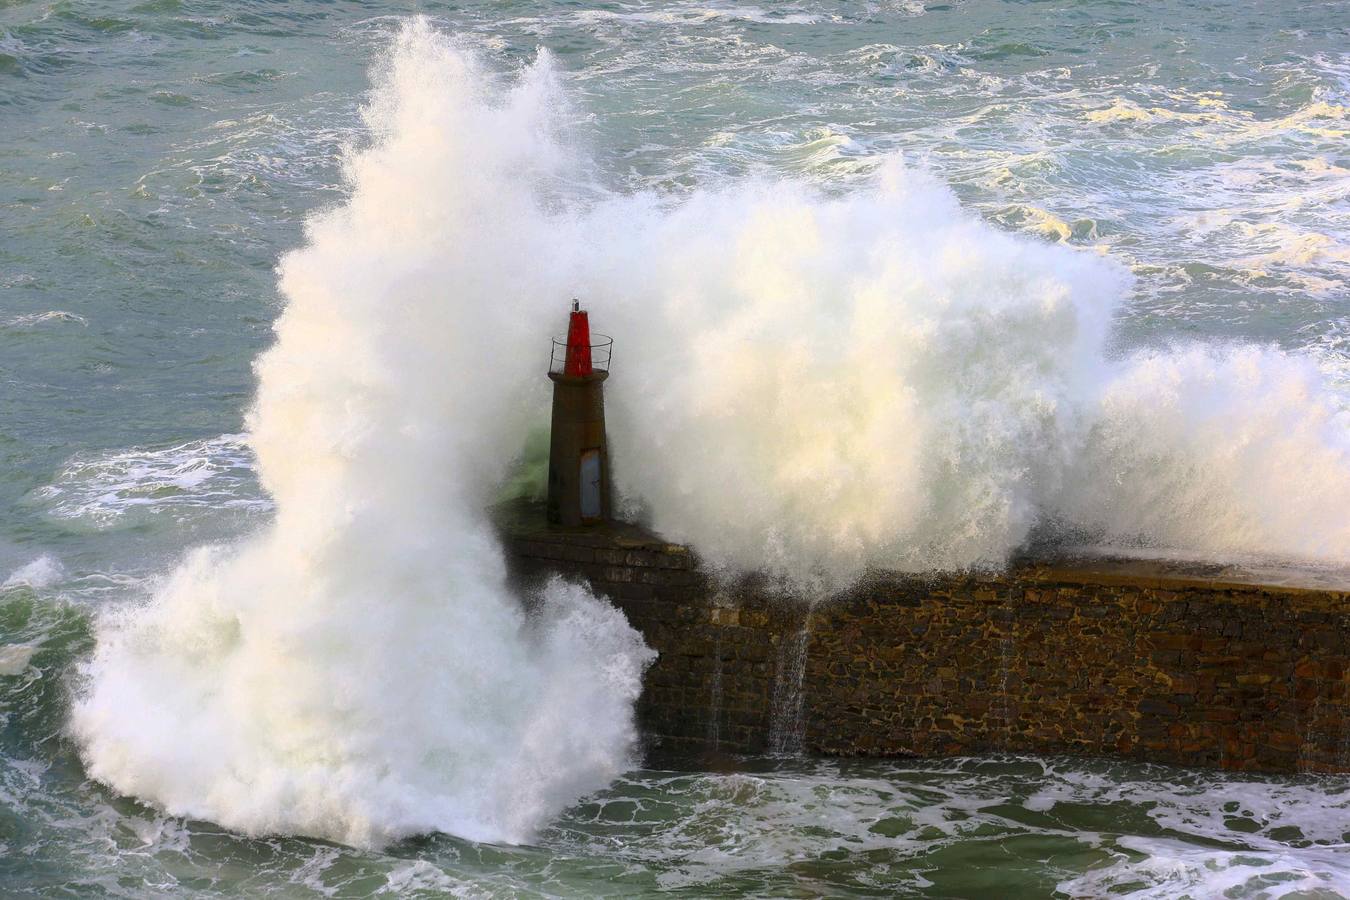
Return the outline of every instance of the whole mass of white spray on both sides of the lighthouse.
{"type": "Polygon", "coordinates": [[[402,31],[350,198],[281,266],[248,422],[275,522],[100,626],[73,716],[94,777],[371,845],[524,841],[630,764],[648,652],[576,587],[524,615],[482,511],[574,294],[618,339],[620,487],[714,565],[817,587],[996,567],[1049,518],[1350,559],[1343,406],[1303,358],[1108,359],[1123,267],[1007,235],[899,161],[844,196],[574,192],[564,109],[547,57],[500,90],[402,31]]]}

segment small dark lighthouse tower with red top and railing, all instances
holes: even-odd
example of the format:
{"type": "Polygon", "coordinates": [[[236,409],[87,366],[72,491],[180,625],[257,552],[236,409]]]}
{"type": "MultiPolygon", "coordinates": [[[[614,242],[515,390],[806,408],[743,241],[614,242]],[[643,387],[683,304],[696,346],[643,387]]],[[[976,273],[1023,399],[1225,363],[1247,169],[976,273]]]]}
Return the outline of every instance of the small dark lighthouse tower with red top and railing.
{"type": "Polygon", "coordinates": [[[567,341],[554,340],[554,430],[548,445],[548,521],[593,525],[610,517],[609,445],[605,441],[605,379],[614,341],[595,335],[572,301],[567,341]]]}

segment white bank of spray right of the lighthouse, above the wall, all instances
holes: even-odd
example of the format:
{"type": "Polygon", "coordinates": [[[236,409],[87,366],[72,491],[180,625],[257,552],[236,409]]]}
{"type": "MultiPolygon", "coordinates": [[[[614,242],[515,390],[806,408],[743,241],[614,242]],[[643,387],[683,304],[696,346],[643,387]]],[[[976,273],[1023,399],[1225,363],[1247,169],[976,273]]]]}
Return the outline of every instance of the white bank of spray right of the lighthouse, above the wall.
{"type": "Polygon", "coordinates": [[[1038,526],[1350,561],[1350,413],[1312,358],[1111,360],[1126,273],[996,231],[921,173],[612,221],[591,223],[608,256],[583,283],[630,348],[622,484],[714,561],[837,586],[995,568],[1038,526]]]}

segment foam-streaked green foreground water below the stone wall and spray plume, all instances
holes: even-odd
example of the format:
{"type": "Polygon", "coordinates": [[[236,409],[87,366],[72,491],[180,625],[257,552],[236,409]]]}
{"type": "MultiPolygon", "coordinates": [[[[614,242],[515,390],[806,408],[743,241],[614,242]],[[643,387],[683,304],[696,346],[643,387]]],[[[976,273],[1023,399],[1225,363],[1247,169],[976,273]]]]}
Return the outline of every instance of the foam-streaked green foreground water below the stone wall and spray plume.
{"type": "Polygon", "coordinates": [[[663,760],[528,846],[428,835],[382,850],[231,834],[90,781],[62,735],[88,614],[11,590],[38,648],[4,694],[7,897],[1336,897],[1350,779],[1000,756],[663,760]]]}

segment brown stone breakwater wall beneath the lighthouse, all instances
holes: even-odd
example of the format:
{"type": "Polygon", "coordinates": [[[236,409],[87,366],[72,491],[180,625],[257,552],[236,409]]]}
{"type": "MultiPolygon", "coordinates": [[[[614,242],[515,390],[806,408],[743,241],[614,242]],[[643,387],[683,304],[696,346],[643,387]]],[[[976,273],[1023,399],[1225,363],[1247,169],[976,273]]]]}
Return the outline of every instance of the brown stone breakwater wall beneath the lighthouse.
{"type": "Polygon", "coordinates": [[[809,606],[634,528],[529,521],[504,528],[514,578],[589,582],[659,652],[639,718],[666,750],[1350,770],[1347,590],[1095,561],[879,573],[809,606]]]}

